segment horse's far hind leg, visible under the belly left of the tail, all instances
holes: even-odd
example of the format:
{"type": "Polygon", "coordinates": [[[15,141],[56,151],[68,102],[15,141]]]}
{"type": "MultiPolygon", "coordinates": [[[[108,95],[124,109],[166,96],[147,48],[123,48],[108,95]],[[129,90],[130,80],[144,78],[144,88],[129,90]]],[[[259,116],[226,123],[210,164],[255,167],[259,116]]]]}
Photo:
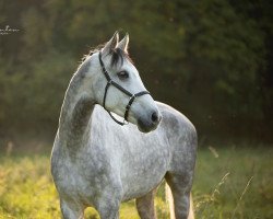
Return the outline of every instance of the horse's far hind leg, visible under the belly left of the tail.
{"type": "Polygon", "coordinates": [[[151,191],[146,195],[136,198],[136,209],[141,219],[156,219],[156,212],[154,209],[154,196],[156,189],[151,191]]]}

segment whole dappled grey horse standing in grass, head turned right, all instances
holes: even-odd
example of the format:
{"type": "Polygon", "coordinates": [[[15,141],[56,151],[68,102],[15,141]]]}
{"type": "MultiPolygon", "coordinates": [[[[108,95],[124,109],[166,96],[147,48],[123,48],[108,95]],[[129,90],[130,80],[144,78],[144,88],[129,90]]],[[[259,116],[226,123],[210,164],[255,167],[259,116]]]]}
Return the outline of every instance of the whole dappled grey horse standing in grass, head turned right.
{"type": "Polygon", "coordinates": [[[154,102],[128,43],[128,34],[119,42],[115,33],[86,56],[66,92],[51,155],[66,219],[83,218],[88,206],[102,219],[117,219],[121,201],[133,198],[142,219],[156,218],[154,195],[164,178],[173,194],[171,217],[192,215],[195,129],[176,110],[154,102]]]}

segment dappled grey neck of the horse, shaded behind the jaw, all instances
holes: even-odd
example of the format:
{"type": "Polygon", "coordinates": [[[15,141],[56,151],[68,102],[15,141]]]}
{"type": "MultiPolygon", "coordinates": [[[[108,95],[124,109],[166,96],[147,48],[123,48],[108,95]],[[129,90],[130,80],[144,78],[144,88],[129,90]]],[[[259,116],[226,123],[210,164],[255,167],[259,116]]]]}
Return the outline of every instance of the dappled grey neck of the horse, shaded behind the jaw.
{"type": "Polygon", "coordinates": [[[95,105],[91,93],[87,95],[81,92],[83,78],[78,72],[71,79],[59,119],[59,137],[71,146],[81,143],[79,141],[84,135],[88,135],[91,115],[95,105]]]}

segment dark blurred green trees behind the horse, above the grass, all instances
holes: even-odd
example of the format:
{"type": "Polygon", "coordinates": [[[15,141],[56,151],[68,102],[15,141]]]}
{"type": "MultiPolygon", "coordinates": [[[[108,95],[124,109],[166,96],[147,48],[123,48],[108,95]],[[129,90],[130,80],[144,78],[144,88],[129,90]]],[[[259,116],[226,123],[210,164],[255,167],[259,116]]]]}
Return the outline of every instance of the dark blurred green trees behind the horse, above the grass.
{"type": "Polygon", "coordinates": [[[273,3],[266,0],[0,0],[0,138],[52,139],[83,54],[116,30],[153,96],[200,139],[272,141],[273,3]]]}

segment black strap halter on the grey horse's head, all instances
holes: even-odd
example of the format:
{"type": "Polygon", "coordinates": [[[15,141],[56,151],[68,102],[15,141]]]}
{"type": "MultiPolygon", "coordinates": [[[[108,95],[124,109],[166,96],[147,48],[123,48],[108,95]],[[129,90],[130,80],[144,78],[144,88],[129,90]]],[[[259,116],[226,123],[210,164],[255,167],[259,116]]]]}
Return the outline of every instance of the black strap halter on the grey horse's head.
{"type": "Polygon", "coordinates": [[[141,91],[139,93],[132,94],[130,91],[126,90],[124,88],[122,88],[121,85],[119,85],[118,83],[116,83],[115,81],[112,81],[111,78],[110,78],[110,76],[109,76],[109,73],[108,73],[108,71],[105,68],[104,62],[103,62],[102,51],[99,51],[99,56],[98,57],[99,57],[99,64],[100,64],[102,70],[103,70],[103,72],[105,74],[105,78],[107,80],[107,84],[105,87],[105,93],[104,93],[104,103],[103,103],[104,104],[104,108],[107,111],[107,108],[105,106],[105,102],[106,102],[107,91],[108,91],[108,88],[110,85],[116,87],[118,90],[120,90],[122,93],[124,93],[126,95],[128,95],[130,97],[129,102],[128,102],[128,104],[126,106],[126,113],[124,113],[124,119],[123,119],[123,122],[119,122],[117,118],[114,117],[114,115],[111,115],[111,113],[109,111],[107,111],[108,114],[110,115],[110,117],[112,118],[112,120],[115,120],[117,124],[123,126],[123,125],[128,124],[128,123],[124,123],[124,122],[128,122],[129,111],[130,111],[131,105],[132,105],[133,101],[135,100],[135,97],[142,96],[144,94],[150,94],[150,92],[149,91],[141,91]]]}

